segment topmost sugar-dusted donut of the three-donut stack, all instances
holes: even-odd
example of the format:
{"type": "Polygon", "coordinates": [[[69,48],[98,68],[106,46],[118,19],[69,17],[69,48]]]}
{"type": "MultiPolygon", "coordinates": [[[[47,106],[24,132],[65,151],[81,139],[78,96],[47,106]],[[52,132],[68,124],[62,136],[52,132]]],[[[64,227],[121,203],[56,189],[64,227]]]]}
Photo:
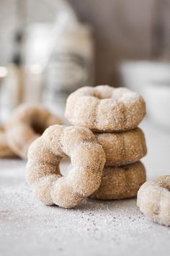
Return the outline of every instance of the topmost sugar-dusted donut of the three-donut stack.
{"type": "Polygon", "coordinates": [[[143,98],[127,88],[84,87],[68,96],[65,116],[94,132],[120,132],[138,126],[146,114],[143,98]]]}

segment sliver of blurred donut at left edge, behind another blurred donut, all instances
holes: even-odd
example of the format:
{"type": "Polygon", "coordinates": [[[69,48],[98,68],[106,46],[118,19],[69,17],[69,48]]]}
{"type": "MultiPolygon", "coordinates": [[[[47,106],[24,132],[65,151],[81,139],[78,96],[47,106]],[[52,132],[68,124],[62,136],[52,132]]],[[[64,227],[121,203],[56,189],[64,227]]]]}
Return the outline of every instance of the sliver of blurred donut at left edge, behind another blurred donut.
{"type": "Polygon", "coordinates": [[[14,156],[16,156],[15,153],[9,148],[6,141],[4,127],[0,127],[0,158],[12,158],[14,156]]]}

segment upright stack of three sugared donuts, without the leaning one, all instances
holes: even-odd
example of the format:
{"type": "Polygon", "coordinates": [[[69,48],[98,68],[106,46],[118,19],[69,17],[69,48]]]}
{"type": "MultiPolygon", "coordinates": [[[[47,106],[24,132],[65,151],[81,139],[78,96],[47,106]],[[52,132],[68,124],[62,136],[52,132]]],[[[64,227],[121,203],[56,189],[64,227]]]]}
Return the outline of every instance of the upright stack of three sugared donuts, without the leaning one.
{"type": "Polygon", "coordinates": [[[138,128],[145,114],[143,98],[127,88],[99,85],[69,95],[66,118],[73,125],[91,129],[106,156],[101,184],[90,197],[135,197],[146,182],[146,170],[140,162],[147,152],[146,140],[138,128]]]}

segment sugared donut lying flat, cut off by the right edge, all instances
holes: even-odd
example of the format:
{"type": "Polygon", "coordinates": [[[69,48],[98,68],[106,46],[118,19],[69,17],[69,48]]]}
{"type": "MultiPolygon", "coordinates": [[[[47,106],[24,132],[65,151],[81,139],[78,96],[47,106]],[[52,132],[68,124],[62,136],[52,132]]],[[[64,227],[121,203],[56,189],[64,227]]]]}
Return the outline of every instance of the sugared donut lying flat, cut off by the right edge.
{"type": "Polygon", "coordinates": [[[170,175],[143,184],[138,191],[137,205],[153,221],[170,226],[170,175]]]}

